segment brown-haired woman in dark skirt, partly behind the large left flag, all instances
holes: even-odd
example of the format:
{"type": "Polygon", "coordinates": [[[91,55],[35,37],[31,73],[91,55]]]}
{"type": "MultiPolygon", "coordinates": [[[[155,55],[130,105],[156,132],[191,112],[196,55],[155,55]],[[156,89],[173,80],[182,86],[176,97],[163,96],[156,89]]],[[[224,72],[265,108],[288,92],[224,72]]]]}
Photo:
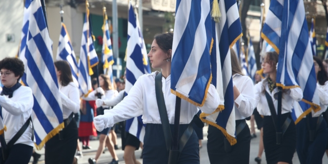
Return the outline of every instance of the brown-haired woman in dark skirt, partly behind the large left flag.
{"type": "Polygon", "coordinates": [[[46,142],[46,163],[72,164],[77,147],[78,131],[73,113],[79,112],[79,91],[73,83],[70,65],[65,60],[55,61],[58,88],[63,105],[65,128],[46,142]]]}

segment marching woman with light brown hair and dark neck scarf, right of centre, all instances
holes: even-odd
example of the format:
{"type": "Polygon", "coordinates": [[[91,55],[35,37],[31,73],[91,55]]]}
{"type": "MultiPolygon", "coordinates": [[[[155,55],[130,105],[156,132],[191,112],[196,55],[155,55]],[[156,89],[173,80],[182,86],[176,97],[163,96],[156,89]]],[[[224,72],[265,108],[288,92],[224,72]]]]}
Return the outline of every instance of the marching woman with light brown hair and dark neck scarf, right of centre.
{"type": "Polygon", "coordinates": [[[285,132],[280,145],[276,144],[276,128],[275,117],[278,100],[276,87],[276,64],[278,63],[278,54],[276,52],[267,52],[262,63],[263,73],[268,77],[255,85],[255,99],[257,110],[263,119],[263,144],[265,150],[265,158],[268,163],[292,163],[293,155],[296,149],[296,128],[293,119],[291,119],[291,111],[293,109],[294,100],[300,101],[303,97],[300,88],[291,88],[282,91],[281,101],[281,122],[280,125],[286,124],[285,132]],[[268,97],[268,99],[267,99],[268,97]],[[270,98],[270,99],[269,99],[270,98]],[[269,103],[268,103],[269,102],[269,103]],[[271,103],[270,103],[271,102],[271,103]],[[271,108],[271,109],[270,109],[271,108]],[[287,120],[287,121],[286,121],[287,120]]]}

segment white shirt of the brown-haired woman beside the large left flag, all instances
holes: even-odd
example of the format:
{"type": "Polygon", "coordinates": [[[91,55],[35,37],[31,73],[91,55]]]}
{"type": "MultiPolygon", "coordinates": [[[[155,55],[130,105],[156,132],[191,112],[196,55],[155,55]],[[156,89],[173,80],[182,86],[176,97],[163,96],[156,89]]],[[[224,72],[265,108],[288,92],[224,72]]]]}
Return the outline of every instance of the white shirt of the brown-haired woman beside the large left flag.
{"type": "Polygon", "coordinates": [[[68,118],[71,113],[77,113],[80,110],[79,91],[76,85],[71,82],[67,86],[58,84],[61,104],[63,105],[63,118],[68,118]]]}

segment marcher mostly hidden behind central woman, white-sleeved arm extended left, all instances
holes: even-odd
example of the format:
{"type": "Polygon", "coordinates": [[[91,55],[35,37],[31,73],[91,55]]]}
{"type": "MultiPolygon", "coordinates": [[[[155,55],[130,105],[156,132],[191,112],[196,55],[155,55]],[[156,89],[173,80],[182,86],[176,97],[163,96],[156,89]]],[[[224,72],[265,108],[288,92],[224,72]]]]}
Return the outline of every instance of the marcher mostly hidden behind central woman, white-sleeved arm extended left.
{"type": "MultiPolygon", "coordinates": [[[[126,80],[126,74],[127,71],[124,72],[124,83],[126,80]]],[[[118,95],[112,99],[97,99],[96,100],[96,105],[97,107],[100,106],[116,106],[120,101],[122,101],[125,97],[125,90],[121,90],[118,95]]],[[[136,160],[135,158],[135,154],[134,151],[139,149],[140,146],[140,140],[130,134],[129,132],[125,131],[125,122],[124,122],[124,126],[121,130],[121,139],[122,139],[122,150],[124,150],[124,161],[127,164],[140,164],[139,161],[136,160]]]]}

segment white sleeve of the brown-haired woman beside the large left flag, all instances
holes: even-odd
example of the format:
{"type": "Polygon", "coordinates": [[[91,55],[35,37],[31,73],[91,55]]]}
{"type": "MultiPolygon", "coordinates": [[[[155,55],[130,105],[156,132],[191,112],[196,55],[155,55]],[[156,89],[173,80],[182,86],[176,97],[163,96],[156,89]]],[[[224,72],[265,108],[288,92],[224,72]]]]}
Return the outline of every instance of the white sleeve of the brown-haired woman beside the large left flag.
{"type": "Polygon", "coordinates": [[[66,109],[71,110],[73,113],[77,113],[80,110],[80,99],[79,91],[77,87],[69,86],[70,90],[68,95],[65,95],[63,92],[60,92],[61,104],[66,109]]]}

